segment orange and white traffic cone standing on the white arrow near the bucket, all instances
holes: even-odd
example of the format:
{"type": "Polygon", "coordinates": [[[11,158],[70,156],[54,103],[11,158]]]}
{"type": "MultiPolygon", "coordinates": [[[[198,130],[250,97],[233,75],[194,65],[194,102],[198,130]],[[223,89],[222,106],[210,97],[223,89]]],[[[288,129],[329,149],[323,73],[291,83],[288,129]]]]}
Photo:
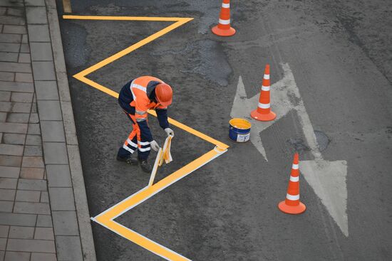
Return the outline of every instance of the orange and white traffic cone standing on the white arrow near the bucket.
{"type": "Polygon", "coordinates": [[[265,65],[264,78],[262,83],[262,91],[260,92],[259,105],[257,109],[250,113],[253,119],[269,122],[277,117],[275,112],[271,110],[271,100],[269,97],[269,64],[265,65]]]}

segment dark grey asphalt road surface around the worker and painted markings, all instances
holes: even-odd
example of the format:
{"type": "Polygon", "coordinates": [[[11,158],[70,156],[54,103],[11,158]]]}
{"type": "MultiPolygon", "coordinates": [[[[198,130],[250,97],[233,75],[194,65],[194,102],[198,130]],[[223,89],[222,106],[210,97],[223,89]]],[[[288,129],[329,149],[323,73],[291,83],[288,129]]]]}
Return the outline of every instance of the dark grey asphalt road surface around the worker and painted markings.
{"type": "MultiPolygon", "coordinates": [[[[116,221],[191,260],[392,260],[391,1],[232,1],[237,34],[230,38],[210,32],[218,0],[71,4],[79,15],[194,18],[88,78],[116,92],[139,75],[161,78],[175,92],[170,117],[230,146],[116,221]],[[286,215],[277,208],[286,195],[294,150],[301,159],[314,160],[304,134],[310,126],[299,112],[287,112],[259,134],[268,161],[252,142],[228,139],[239,76],[247,97],[253,97],[266,63],[272,83],[284,78],[289,65],[322,158],[346,162],[346,176],[339,181],[346,205],[329,202],[331,209],[346,208],[346,232],[320,196],[328,189],[319,191],[304,176],[306,212],[286,215]]],[[[58,6],[63,14],[61,1],[58,6]]],[[[61,17],[60,23],[88,204],[95,216],[143,188],[149,176],[115,160],[130,132],[117,101],[72,75],[170,23],[61,17]]],[[[150,126],[162,143],[165,133],[153,117],[150,126]]],[[[160,169],[158,179],[212,149],[174,130],[174,161],[160,169]]],[[[99,261],[162,260],[96,223],[93,236],[99,261]]]]}

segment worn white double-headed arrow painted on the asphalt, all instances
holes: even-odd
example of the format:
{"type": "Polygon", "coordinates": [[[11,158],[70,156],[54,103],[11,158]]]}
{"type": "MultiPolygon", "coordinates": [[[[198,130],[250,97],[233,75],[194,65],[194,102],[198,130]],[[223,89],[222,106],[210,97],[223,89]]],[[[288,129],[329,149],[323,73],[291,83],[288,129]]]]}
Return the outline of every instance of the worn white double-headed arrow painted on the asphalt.
{"type": "Polygon", "coordinates": [[[301,172],[304,174],[306,181],[314,189],[314,192],[326,206],[329,214],[339,225],[342,233],[349,236],[349,223],[346,214],[347,209],[347,162],[325,161],[319,151],[313,126],[306,112],[304,102],[299,95],[299,89],[296,86],[294,75],[287,63],[282,64],[284,78],[271,86],[271,105],[272,110],[277,114],[277,119],[272,122],[259,122],[250,117],[250,112],[257,106],[259,94],[250,99],[247,98],[247,92],[239,76],[237,93],[234,97],[231,117],[246,118],[252,122],[250,141],[254,147],[267,159],[267,153],[263,147],[260,132],[284,117],[290,110],[296,110],[299,116],[299,122],[307,144],[314,156],[314,160],[301,161],[301,172]]]}

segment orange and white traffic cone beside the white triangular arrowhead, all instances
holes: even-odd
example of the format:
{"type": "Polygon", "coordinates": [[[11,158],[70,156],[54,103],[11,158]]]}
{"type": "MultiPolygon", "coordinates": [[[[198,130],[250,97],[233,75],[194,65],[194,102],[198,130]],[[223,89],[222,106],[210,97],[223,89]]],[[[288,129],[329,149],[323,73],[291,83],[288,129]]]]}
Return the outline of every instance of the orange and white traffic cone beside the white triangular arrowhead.
{"type": "Polygon", "coordinates": [[[287,214],[301,214],[306,210],[304,203],[299,201],[299,156],[294,154],[292,174],[290,175],[289,187],[287,188],[286,200],[279,203],[280,211],[287,214]]]}

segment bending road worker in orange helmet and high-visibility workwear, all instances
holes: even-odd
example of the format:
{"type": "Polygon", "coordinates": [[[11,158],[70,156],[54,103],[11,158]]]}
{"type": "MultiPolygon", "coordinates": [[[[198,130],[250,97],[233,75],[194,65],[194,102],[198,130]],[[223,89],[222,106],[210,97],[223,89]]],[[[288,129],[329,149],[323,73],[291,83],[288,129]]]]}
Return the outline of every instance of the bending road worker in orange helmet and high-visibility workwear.
{"type": "Polygon", "coordinates": [[[167,106],[172,103],[172,87],[153,76],[141,76],[123,86],[118,103],[132,122],[133,130],[123,146],[118,149],[117,160],[134,165],[140,163],[141,169],[150,173],[150,149],[158,151],[160,147],[148,127],[148,110],[155,110],[160,127],[165,130],[167,136],[174,136],[167,121],[167,106]],[[132,157],[136,150],[138,159],[132,157]]]}

